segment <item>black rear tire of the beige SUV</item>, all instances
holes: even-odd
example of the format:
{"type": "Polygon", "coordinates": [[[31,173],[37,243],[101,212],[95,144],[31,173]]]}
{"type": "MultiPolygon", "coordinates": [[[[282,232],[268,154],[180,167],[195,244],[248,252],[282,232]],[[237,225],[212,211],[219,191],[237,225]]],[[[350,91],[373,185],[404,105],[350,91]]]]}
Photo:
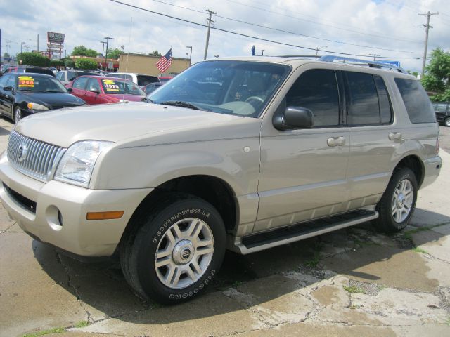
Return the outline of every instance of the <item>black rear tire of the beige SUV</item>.
{"type": "Polygon", "coordinates": [[[398,169],[395,169],[394,173],[392,174],[391,180],[387,185],[385,193],[383,194],[383,197],[380,199],[380,202],[378,202],[378,205],[376,206],[376,210],[378,211],[380,216],[377,219],[372,220],[375,228],[380,232],[385,233],[394,233],[403,230],[404,227],[408,225],[411,217],[413,216],[414,210],[416,209],[417,190],[418,185],[416,175],[413,173],[413,171],[411,171],[411,169],[407,167],[400,167],[398,169]],[[409,208],[409,213],[401,214],[401,216],[396,219],[394,218],[393,212],[396,211],[396,216],[399,215],[399,213],[401,213],[399,210],[402,209],[401,204],[408,203],[407,200],[406,202],[401,201],[401,199],[405,200],[406,197],[400,197],[400,194],[399,197],[396,197],[396,195],[394,194],[397,188],[400,188],[400,184],[404,181],[406,181],[406,185],[411,187],[412,201],[411,205],[407,207],[409,208]]]}

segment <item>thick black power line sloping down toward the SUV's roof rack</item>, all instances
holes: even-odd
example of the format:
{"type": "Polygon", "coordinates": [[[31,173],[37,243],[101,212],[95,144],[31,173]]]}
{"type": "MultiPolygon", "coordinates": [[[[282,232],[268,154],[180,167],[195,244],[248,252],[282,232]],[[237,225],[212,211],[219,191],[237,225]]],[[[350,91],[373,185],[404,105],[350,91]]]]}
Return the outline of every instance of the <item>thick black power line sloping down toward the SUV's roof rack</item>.
{"type": "MultiPolygon", "coordinates": [[[[198,26],[201,26],[201,27],[208,27],[207,25],[204,25],[202,23],[193,22],[191,20],[186,20],[186,19],[182,19],[182,18],[177,18],[176,16],[160,13],[160,12],[157,12],[157,11],[151,11],[150,9],[142,8],[142,7],[139,7],[139,6],[134,6],[134,5],[131,5],[131,4],[126,4],[126,3],[122,2],[122,1],[117,1],[117,0],[109,0],[109,1],[115,2],[116,4],[122,4],[124,6],[129,6],[131,8],[136,8],[136,9],[139,9],[141,11],[146,11],[148,13],[153,13],[153,14],[156,14],[156,15],[165,16],[167,18],[172,18],[174,20],[179,20],[179,21],[182,21],[182,22],[188,22],[188,23],[191,23],[193,25],[198,25],[198,26]]],[[[316,50],[316,48],[309,48],[309,47],[305,47],[305,46],[299,46],[299,45],[296,45],[296,44],[287,44],[287,43],[281,42],[281,41],[274,41],[274,40],[271,40],[271,39],[264,39],[262,37],[255,37],[255,36],[252,36],[252,35],[238,33],[238,32],[233,32],[233,31],[230,31],[230,30],[227,30],[227,29],[218,28],[218,27],[211,27],[211,29],[215,29],[215,30],[217,30],[219,32],[226,32],[226,33],[230,33],[230,34],[239,35],[241,37],[248,37],[250,39],[255,39],[255,40],[259,40],[259,41],[266,41],[266,42],[270,42],[272,44],[280,44],[282,46],[290,46],[290,47],[295,47],[295,48],[302,48],[302,49],[307,49],[309,51],[315,51],[316,50]]],[[[374,48],[374,47],[366,47],[366,48],[374,48]]],[[[375,48],[375,49],[377,49],[377,48],[375,48]]],[[[370,58],[371,57],[371,55],[360,55],[360,54],[355,54],[355,53],[341,53],[341,52],[338,52],[338,51],[327,51],[327,52],[328,53],[338,54],[338,55],[360,56],[360,57],[366,57],[366,58],[370,58]]],[[[416,52],[409,52],[409,53],[416,53],[416,52]]],[[[395,56],[380,56],[380,57],[383,57],[383,58],[399,58],[399,57],[395,57],[395,56]]]]}

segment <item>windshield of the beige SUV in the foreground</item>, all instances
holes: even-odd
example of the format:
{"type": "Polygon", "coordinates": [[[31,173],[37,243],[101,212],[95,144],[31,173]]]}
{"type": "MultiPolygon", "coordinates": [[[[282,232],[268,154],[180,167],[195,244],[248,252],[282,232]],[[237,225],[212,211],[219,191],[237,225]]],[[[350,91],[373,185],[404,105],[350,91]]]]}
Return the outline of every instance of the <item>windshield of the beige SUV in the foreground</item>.
{"type": "Polygon", "coordinates": [[[156,104],[259,117],[289,70],[268,62],[200,62],[148,98],[156,104]]]}

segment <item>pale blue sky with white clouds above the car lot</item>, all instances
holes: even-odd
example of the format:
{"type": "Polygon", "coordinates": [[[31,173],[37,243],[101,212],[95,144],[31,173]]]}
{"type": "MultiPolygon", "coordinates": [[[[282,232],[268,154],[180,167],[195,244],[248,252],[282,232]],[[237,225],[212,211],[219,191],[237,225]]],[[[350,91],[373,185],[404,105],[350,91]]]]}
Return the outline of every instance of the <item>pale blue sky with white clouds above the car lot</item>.
{"type": "Polygon", "coordinates": [[[1,55],[9,41],[11,55],[46,45],[46,32],[65,34],[69,55],[84,45],[102,52],[101,41],[129,53],[165,54],[203,60],[207,10],[214,28],[207,58],[251,55],[333,55],[399,60],[420,72],[427,17],[431,15],[428,55],[450,48],[449,0],[0,0],[1,55]],[[163,15],[158,15],[157,12],[163,15]],[[182,20],[176,20],[180,18],[182,20]],[[199,25],[196,25],[199,24],[199,25]],[[222,29],[222,30],[219,30],[222,29]],[[228,31],[228,32],[224,32],[228,31]],[[233,34],[238,33],[241,35],[233,34]],[[269,41],[264,41],[269,40],[269,41]],[[300,48],[305,47],[305,48],[300,48]],[[311,49],[307,49],[311,48],[311,49]],[[338,55],[338,54],[335,54],[338,55]]]}

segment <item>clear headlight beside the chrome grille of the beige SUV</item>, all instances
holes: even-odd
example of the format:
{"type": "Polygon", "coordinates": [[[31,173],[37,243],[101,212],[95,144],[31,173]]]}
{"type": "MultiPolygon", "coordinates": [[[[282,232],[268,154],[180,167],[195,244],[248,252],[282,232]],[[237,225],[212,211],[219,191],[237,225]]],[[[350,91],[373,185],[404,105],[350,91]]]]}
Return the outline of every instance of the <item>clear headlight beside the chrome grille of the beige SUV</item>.
{"type": "Polygon", "coordinates": [[[111,144],[111,142],[100,140],[84,140],[72,144],[58,164],[55,180],[81,187],[89,187],[91,174],[98,156],[111,144]]]}

